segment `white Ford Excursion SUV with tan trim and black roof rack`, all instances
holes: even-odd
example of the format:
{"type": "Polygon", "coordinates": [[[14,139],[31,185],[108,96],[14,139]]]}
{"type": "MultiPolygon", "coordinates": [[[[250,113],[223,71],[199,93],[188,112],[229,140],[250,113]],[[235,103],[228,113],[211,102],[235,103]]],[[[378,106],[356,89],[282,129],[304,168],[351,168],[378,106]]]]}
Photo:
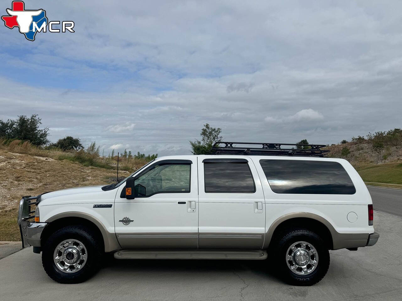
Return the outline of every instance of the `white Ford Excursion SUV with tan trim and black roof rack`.
{"type": "Polygon", "coordinates": [[[323,145],[220,143],[214,155],[160,157],[120,183],[23,197],[23,246],[42,252],[60,283],[88,279],[113,252],[269,258],[287,282],[311,285],[328,270],[328,250],[377,242],[364,182],[346,160],[323,157],[323,145]]]}

